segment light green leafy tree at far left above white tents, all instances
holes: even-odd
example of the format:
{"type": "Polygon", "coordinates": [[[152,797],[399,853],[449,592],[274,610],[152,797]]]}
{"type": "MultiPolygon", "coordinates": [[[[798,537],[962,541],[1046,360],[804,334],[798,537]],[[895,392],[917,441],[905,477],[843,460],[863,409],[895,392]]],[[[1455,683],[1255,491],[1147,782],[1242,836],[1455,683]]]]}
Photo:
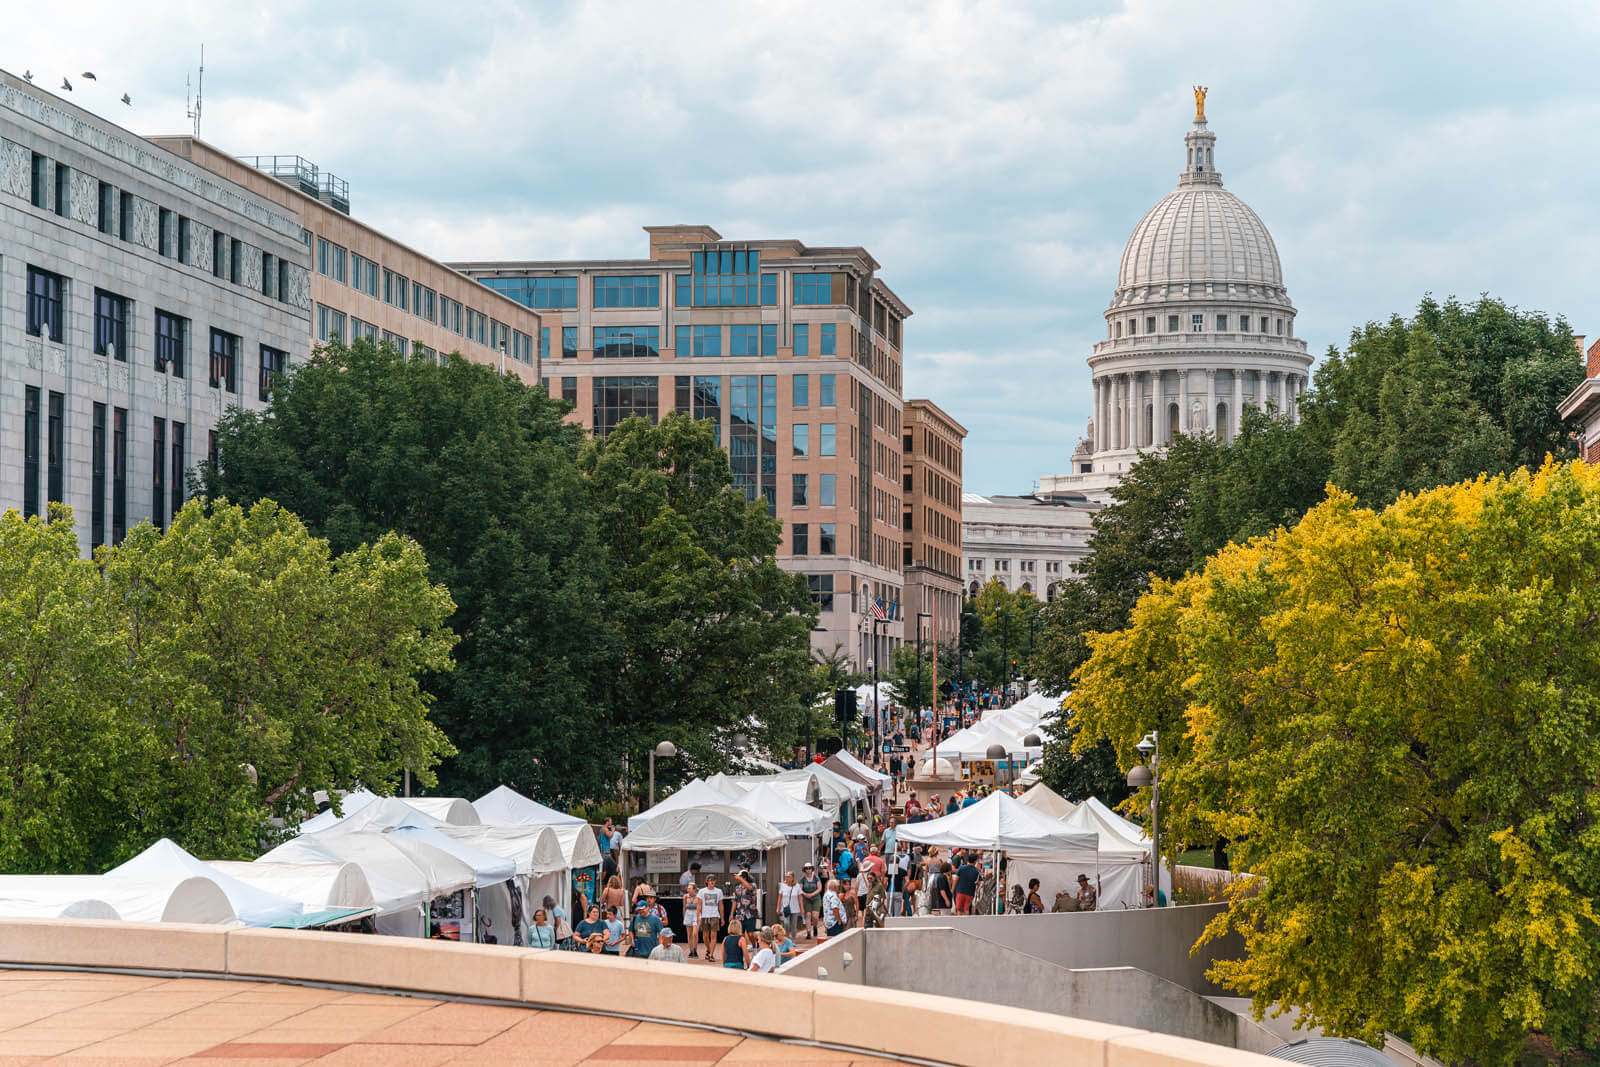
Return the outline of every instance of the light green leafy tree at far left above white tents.
{"type": "Polygon", "coordinates": [[[78,557],[70,510],[0,518],[0,869],[94,872],[160,837],[259,853],[270,816],[450,752],[421,672],[453,605],[414,542],[334,557],[270,501],[187,504],[78,557]]]}

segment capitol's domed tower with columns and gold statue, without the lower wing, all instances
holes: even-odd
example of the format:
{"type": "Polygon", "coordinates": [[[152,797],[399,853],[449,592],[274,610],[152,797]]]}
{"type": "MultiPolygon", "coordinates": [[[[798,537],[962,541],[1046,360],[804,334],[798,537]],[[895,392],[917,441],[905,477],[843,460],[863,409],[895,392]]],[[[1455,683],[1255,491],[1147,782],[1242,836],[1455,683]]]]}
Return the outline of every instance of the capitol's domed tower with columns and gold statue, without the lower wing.
{"type": "Polygon", "coordinates": [[[1094,414],[1069,474],[1040,480],[1046,496],[1106,499],[1141,451],[1179,432],[1232,440],[1246,405],[1299,418],[1310,355],[1272,234],[1222,187],[1205,90],[1184,136],[1178,189],[1133,229],[1106,338],[1094,346],[1094,414]]]}

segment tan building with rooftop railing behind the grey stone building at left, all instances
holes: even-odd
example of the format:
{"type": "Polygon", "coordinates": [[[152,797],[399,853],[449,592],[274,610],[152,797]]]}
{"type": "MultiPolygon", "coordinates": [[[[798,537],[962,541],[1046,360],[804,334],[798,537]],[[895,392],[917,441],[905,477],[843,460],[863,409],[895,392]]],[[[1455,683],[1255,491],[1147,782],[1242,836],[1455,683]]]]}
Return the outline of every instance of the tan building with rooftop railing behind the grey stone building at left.
{"type": "Polygon", "coordinates": [[[435,360],[461,352],[539,381],[539,317],[350,218],[349,184],[298,155],[234,158],[190,136],[154,142],[288,208],[310,258],[312,339],[387,341],[435,360]]]}

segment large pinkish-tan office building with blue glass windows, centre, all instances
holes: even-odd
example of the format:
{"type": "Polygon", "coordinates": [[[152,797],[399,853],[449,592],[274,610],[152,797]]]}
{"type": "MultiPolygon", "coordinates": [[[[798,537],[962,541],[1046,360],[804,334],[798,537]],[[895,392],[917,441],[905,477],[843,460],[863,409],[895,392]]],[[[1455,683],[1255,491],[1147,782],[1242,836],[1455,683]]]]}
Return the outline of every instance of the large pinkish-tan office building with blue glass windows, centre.
{"type": "Polygon", "coordinates": [[[554,395],[597,435],[682,411],[782,520],[779,563],[821,609],[811,643],[866,667],[902,640],[901,334],[864,248],[650,226],[646,259],[462,262],[539,312],[554,395]],[[875,622],[874,603],[883,622],[875,622]]]}

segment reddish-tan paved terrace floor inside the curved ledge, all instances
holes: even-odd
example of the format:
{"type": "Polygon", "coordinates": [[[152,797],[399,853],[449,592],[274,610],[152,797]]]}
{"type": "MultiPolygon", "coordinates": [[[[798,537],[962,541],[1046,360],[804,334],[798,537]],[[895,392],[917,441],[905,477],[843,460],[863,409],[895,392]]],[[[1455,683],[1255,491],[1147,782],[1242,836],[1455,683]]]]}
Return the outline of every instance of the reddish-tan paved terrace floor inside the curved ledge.
{"type": "Polygon", "coordinates": [[[277,982],[0,971],[0,1067],[45,1062],[840,1067],[893,1061],[534,1008],[341,993],[277,982]]]}

